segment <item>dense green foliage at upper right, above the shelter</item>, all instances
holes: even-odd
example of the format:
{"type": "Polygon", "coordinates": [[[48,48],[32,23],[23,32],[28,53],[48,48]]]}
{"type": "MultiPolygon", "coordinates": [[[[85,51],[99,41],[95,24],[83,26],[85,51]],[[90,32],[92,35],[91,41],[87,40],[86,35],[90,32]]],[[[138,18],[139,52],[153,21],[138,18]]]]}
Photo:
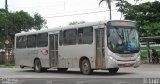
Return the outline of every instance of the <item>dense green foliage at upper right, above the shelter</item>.
{"type": "Polygon", "coordinates": [[[160,35],[160,2],[146,2],[139,5],[132,5],[127,1],[118,2],[118,11],[125,19],[137,21],[140,35],[160,35]]]}

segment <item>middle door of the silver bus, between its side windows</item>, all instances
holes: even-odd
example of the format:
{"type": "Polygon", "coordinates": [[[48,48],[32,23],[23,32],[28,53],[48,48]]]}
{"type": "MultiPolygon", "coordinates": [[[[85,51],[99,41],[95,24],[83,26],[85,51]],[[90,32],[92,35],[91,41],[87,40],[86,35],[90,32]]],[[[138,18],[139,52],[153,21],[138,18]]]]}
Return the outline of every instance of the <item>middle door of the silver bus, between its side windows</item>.
{"type": "Polygon", "coordinates": [[[58,65],[58,34],[49,35],[49,60],[51,67],[58,65]]]}

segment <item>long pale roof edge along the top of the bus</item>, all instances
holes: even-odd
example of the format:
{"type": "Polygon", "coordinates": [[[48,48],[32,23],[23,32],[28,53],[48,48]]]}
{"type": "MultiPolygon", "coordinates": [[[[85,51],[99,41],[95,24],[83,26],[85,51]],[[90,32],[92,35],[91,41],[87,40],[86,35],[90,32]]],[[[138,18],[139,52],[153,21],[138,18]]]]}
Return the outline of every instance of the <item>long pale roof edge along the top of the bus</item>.
{"type": "MultiPolygon", "coordinates": [[[[131,20],[108,20],[108,21],[131,21],[131,20]]],[[[107,23],[108,21],[104,20],[104,21],[97,21],[97,22],[87,22],[87,23],[82,23],[82,24],[77,24],[77,25],[69,25],[69,26],[65,26],[65,27],[49,28],[49,29],[46,29],[46,30],[21,32],[21,33],[16,33],[15,36],[32,35],[32,34],[52,32],[52,31],[56,32],[56,31],[60,31],[60,30],[75,29],[75,28],[86,27],[86,26],[103,25],[103,24],[107,23]]],[[[134,21],[131,21],[131,22],[134,22],[134,21]]]]}

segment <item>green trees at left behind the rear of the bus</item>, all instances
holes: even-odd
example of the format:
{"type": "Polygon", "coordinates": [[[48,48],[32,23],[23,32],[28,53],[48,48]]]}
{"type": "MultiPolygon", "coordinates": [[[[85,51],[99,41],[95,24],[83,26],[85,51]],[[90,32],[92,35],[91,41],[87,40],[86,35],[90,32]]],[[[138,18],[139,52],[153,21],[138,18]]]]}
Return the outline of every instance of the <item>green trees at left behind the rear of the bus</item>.
{"type": "MultiPolygon", "coordinates": [[[[5,13],[4,9],[0,9],[0,41],[4,43],[5,40],[5,13]],[[3,41],[3,42],[2,42],[3,41]]],[[[14,35],[21,31],[29,31],[31,29],[40,30],[46,27],[46,20],[40,14],[35,13],[32,17],[29,13],[24,11],[7,12],[7,26],[8,38],[14,42],[14,35]]],[[[0,46],[2,47],[2,46],[0,46]]]]}

